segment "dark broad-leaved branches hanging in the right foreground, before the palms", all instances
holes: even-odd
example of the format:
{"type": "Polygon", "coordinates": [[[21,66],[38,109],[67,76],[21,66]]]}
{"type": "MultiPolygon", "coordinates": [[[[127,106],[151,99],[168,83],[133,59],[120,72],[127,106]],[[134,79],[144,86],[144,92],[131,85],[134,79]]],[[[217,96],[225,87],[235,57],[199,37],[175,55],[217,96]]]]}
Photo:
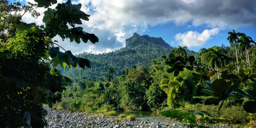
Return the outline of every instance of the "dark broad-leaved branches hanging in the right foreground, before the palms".
{"type": "MultiPolygon", "coordinates": [[[[172,68],[169,69],[168,72],[170,72],[170,73],[174,72],[174,76],[177,76],[180,71],[183,71],[184,70],[183,68],[190,69],[190,70],[196,69],[196,72],[198,72],[198,73],[200,73],[200,72],[206,73],[205,69],[202,69],[199,67],[202,64],[197,63],[193,56],[190,56],[188,59],[184,59],[180,56],[176,57],[174,54],[170,54],[167,64],[172,66],[172,68]]],[[[229,64],[229,65],[227,65],[227,69],[223,69],[223,71],[222,71],[222,75],[221,75],[222,79],[216,79],[212,83],[206,82],[206,84],[211,86],[215,92],[213,92],[211,90],[207,90],[207,89],[203,89],[203,92],[207,93],[209,95],[213,95],[213,96],[215,96],[215,98],[207,99],[205,101],[205,104],[215,104],[215,103],[222,101],[222,103],[219,107],[219,110],[220,110],[222,108],[224,100],[226,100],[230,96],[234,96],[234,94],[232,93],[233,89],[235,89],[235,91],[240,96],[246,97],[246,98],[251,98],[252,100],[255,100],[254,98],[250,97],[250,95],[251,96],[254,95],[252,90],[249,90],[249,92],[251,92],[250,95],[248,95],[248,94],[245,95],[245,93],[242,92],[240,89],[236,89],[239,87],[241,81],[245,81],[246,79],[251,79],[252,81],[256,80],[255,79],[256,75],[253,73],[253,70],[248,69],[245,72],[244,69],[240,69],[240,71],[239,71],[240,73],[234,74],[233,71],[235,69],[236,68],[232,64],[229,64]]],[[[209,78],[209,76],[212,75],[213,72],[216,72],[216,71],[212,71],[212,72],[208,73],[206,77],[201,77],[201,78],[199,78],[197,74],[194,74],[195,78],[197,78],[197,79],[193,79],[193,80],[195,82],[199,82],[201,80],[207,80],[209,78]]],[[[256,112],[255,106],[256,106],[255,101],[247,101],[243,105],[246,112],[249,112],[249,113],[256,112]]]]}

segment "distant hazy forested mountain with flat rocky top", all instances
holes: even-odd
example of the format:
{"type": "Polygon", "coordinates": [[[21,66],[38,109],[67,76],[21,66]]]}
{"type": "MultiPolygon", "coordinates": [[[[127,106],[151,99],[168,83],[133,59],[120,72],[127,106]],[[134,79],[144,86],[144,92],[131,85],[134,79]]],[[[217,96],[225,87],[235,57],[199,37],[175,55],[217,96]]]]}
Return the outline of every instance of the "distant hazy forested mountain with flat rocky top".
{"type": "Polygon", "coordinates": [[[133,64],[137,65],[138,68],[145,64],[151,67],[153,59],[160,59],[161,55],[168,56],[172,49],[174,48],[162,40],[161,37],[155,38],[148,35],[140,36],[134,33],[132,37],[126,39],[126,47],[124,48],[103,54],[85,52],[79,54],[78,57],[91,61],[91,69],[69,69],[68,67],[62,69],[60,66],[58,66],[58,69],[71,79],[93,77],[105,79],[105,76],[108,74],[108,69],[110,68],[113,68],[117,73],[114,75],[114,77],[116,77],[122,75],[124,69],[130,69],[133,64]]]}

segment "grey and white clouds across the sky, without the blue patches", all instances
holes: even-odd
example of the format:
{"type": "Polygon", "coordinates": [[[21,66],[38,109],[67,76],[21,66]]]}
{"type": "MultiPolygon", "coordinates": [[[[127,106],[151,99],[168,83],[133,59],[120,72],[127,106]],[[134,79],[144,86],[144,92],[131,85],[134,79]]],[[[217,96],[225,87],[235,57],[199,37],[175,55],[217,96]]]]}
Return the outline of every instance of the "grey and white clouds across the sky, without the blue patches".
{"type": "MultiPolygon", "coordinates": [[[[34,3],[34,0],[29,1],[34,3]]],[[[62,2],[65,0],[58,0],[58,3],[62,2]]],[[[148,25],[155,26],[169,22],[184,25],[191,22],[191,26],[207,25],[222,30],[241,26],[256,27],[256,0],[246,2],[243,0],[76,0],[72,3],[81,3],[81,10],[91,15],[89,21],[82,21],[83,25],[80,26],[84,27],[86,32],[94,33],[99,37],[97,44],[77,45],[68,40],[63,42],[72,45],[66,47],[67,49],[77,48],[78,53],[88,50],[102,53],[119,49],[125,45],[125,39],[134,32],[142,34],[147,31],[148,25]]],[[[55,5],[51,8],[55,8],[55,5]]],[[[23,20],[44,25],[41,19],[45,9],[39,8],[38,11],[42,15],[39,19],[33,19],[26,14],[23,20]]],[[[212,29],[212,31],[217,30],[212,29]]],[[[190,37],[202,40],[200,41],[202,44],[214,35],[212,31],[205,30],[202,34],[189,31],[177,36],[188,38],[191,34],[190,37]],[[205,37],[203,34],[206,34],[205,37]],[[203,39],[199,39],[199,36],[203,39]]],[[[184,40],[182,39],[181,42],[184,40]]]]}

